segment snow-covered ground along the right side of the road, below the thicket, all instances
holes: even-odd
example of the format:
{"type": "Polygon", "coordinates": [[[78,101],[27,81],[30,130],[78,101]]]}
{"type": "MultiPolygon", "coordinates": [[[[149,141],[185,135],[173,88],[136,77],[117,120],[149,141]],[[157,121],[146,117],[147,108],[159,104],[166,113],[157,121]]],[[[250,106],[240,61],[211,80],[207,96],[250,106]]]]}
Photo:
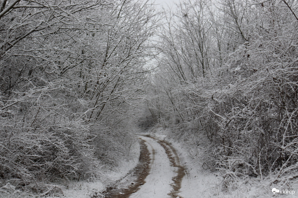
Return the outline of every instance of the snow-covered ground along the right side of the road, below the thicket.
{"type": "Polygon", "coordinates": [[[169,129],[157,128],[153,129],[150,134],[153,137],[158,137],[161,140],[171,142],[172,146],[179,154],[181,165],[186,169],[186,175],[182,179],[179,196],[183,198],[196,197],[215,197],[215,198],[268,198],[268,197],[298,197],[298,183],[293,183],[291,186],[274,186],[280,190],[295,191],[293,194],[274,194],[272,192],[273,186],[269,186],[269,179],[264,178],[247,178],[246,180],[239,180],[238,188],[225,192],[222,190],[221,173],[209,172],[204,170],[196,160],[189,155],[190,148],[182,142],[177,142],[170,138],[171,132],[169,129]]]}

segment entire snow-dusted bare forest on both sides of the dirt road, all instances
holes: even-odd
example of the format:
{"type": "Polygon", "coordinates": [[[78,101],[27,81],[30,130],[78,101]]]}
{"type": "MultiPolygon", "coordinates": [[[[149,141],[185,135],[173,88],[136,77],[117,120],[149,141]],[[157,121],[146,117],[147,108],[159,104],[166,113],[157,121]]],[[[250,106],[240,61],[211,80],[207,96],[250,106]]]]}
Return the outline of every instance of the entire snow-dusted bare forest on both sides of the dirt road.
{"type": "Polygon", "coordinates": [[[134,134],[156,126],[221,172],[223,190],[297,180],[297,10],[296,0],[0,1],[0,191],[105,180],[134,134]]]}

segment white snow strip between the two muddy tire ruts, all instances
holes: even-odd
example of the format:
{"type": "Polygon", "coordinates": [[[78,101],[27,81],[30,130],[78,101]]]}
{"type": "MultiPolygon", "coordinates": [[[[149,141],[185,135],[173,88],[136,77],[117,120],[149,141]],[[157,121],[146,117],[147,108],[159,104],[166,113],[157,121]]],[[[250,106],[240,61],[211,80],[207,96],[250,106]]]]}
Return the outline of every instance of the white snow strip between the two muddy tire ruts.
{"type": "Polygon", "coordinates": [[[173,190],[172,178],[176,175],[175,167],[170,166],[170,160],[164,148],[149,137],[141,137],[145,140],[150,154],[150,172],[145,179],[145,184],[140,186],[139,191],[131,194],[130,198],[167,198],[171,197],[173,190]]]}

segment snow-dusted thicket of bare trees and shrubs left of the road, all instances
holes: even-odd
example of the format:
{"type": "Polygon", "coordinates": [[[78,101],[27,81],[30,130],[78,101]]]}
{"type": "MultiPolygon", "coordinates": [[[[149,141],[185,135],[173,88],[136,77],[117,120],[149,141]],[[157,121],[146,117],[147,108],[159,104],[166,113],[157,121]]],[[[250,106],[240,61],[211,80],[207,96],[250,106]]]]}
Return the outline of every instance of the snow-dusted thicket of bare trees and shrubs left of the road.
{"type": "Polygon", "coordinates": [[[51,193],[127,157],[155,28],[148,1],[1,1],[1,192],[51,193]]]}

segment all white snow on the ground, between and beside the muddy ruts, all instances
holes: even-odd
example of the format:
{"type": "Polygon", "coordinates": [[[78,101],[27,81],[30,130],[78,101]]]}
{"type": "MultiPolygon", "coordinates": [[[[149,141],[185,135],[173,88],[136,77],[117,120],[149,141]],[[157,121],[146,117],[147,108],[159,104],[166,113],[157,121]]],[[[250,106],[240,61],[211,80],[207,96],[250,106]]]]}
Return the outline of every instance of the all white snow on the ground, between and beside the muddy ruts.
{"type": "MultiPolygon", "coordinates": [[[[222,180],[220,172],[209,172],[204,170],[200,163],[200,157],[193,159],[189,155],[191,148],[183,142],[175,141],[171,138],[169,129],[156,128],[146,135],[157,137],[159,140],[170,142],[171,146],[178,153],[180,164],[184,166],[186,174],[182,178],[181,188],[178,196],[183,198],[244,198],[244,197],[298,197],[298,183],[293,183],[290,186],[269,186],[269,179],[263,178],[247,178],[238,181],[238,187],[229,190],[228,192],[222,190],[222,180]],[[295,191],[292,194],[274,194],[272,188],[295,191]]],[[[173,177],[176,175],[177,168],[171,166],[169,156],[166,154],[162,145],[158,140],[150,137],[140,136],[145,140],[145,144],[150,152],[150,172],[145,178],[144,185],[139,187],[139,190],[131,194],[131,198],[170,198],[170,192],[173,191],[173,177]]],[[[56,195],[50,198],[67,197],[67,198],[91,198],[94,195],[101,197],[100,192],[103,192],[106,187],[121,179],[131,182],[131,178],[125,177],[127,173],[132,170],[139,160],[140,147],[136,142],[131,148],[130,160],[125,160],[121,166],[114,168],[107,172],[105,181],[80,181],[67,183],[67,187],[62,188],[63,193],[58,191],[56,195]]],[[[65,185],[65,183],[63,184],[65,185]]],[[[62,186],[62,184],[61,184],[62,186]]],[[[61,188],[59,186],[59,188],[61,188]]],[[[3,195],[0,194],[2,198],[3,195]]],[[[42,197],[41,195],[30,194],[12,194],[4,196],[3,198],[29,198],[29,197],[42,197]]],[[[104,197],[104,196],[102,196],[104,197]]]]}

